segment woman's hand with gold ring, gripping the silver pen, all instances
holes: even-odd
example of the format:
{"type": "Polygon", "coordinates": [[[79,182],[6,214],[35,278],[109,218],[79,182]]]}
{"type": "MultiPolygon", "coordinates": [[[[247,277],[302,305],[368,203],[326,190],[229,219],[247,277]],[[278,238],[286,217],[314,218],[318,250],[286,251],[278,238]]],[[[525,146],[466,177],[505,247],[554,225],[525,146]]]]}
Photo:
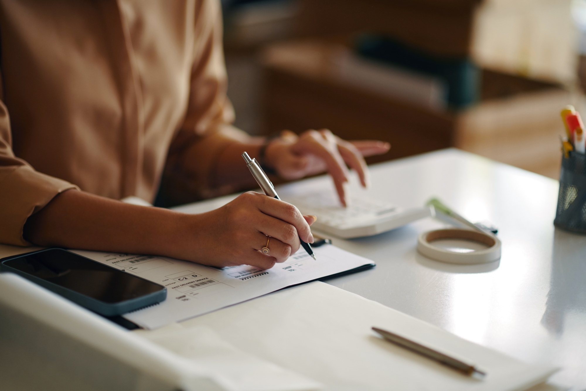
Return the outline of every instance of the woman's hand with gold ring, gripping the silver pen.
{"type": "Polygon", "coordinates": [[[304,216],[291,204],[248,191],[216,210],[190,215],[192,235],[182,259],[216,267],[247,264],[270,269],[299,250],[299,238],[313,243],[309,225],[315,216],[304,216]],[[270,252],[263,254],[267,245],[270,252]]]}

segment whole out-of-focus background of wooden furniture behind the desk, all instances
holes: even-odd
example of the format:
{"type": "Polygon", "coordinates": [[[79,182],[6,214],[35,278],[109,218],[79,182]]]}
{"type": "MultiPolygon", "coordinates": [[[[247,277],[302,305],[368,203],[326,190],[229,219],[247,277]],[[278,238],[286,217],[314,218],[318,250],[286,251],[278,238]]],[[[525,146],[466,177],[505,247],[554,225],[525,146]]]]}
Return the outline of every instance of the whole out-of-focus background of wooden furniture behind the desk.
{"type": "Polygon", "coordinates": [[[248,133],[458,147],[551,178],[560,110],[586,114],[586,0],[223,0],[248,133]]]}

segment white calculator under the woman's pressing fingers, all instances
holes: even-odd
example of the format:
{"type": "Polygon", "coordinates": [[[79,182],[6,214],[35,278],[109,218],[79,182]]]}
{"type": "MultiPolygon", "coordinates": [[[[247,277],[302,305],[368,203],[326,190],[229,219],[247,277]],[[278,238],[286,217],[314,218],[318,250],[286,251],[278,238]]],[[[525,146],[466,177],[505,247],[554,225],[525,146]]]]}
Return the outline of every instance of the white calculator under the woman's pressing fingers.
{"type": "Polygon", "coordinates": [[[303,214],[318,217],[311,227],[339,238],[358,238],[380,234],[431,214],[429,207],[404,209],[380,201],[350,198],[349,206],[335,205],[323,193],[287,198],[303,214]]]}

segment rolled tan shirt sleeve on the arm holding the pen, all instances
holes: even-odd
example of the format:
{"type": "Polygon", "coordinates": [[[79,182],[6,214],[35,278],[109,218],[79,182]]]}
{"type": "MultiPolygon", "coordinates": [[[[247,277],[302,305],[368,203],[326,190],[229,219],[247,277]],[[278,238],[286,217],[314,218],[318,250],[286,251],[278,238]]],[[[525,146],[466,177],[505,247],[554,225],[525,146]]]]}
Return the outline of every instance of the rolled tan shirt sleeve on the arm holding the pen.
{"type": "Polygon", "coordinates": [[[26,219],[70,188],[77,187],[35,171],[14,155],[8,110],[0,100],[0,242],[30,245],[22,235],[26,219]]]}

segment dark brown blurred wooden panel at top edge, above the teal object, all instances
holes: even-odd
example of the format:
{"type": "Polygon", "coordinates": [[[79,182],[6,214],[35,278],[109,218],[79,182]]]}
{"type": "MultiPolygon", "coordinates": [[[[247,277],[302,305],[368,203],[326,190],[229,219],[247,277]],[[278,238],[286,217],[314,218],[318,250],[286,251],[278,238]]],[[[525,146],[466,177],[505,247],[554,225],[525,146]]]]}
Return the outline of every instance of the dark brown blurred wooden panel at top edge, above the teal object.
{"type": "Polygon", "coordinates": [[[394,36],[432,53],[466,56],[482,0],[302,0],[301,37],[368,31],[394,36]]]}

